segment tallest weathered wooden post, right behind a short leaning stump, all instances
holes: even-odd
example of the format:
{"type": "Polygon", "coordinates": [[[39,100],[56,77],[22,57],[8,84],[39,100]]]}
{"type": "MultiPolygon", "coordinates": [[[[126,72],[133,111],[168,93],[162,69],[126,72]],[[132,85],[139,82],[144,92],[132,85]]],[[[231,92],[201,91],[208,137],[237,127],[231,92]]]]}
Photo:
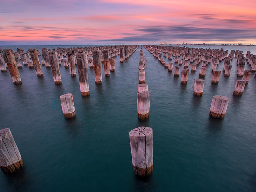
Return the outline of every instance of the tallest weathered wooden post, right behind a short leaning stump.
{"type": "Polygon", "coordinates": [[[76,54],[77,71],[79,76],[79,85],[82,96],[90,95],[88,82],[88,61],[85,53],[76,54]]]}

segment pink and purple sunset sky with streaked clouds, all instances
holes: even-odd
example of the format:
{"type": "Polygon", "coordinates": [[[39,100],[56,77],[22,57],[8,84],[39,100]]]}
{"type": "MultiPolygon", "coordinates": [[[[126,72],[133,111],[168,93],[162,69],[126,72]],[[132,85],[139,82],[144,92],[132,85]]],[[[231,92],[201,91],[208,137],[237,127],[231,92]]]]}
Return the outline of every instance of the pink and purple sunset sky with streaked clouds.
{"type": "Polygon", "coordinates": [[[256,44],[255,0],[0,0],[0,45],[256,44]]]}

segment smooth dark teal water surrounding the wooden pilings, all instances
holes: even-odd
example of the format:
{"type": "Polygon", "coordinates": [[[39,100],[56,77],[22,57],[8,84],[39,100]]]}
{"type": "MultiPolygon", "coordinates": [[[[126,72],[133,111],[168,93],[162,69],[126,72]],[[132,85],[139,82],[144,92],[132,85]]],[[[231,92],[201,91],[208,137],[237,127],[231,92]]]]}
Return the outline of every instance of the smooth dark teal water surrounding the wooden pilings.
{"type": "MultiPolygon", "coordinates": [[[[19,47],[41,52],[42,46],[19,47]]],[[[256,53],[256,47],[223,48],[256,53]]],[[[0,191],[255,191],[255,73],[242,97],[233,97],[236,60],[230,77],[222,71],[218,85],[211,84],[208,65],[203,95],[194,97],[199,67],[181,85],[181,76],[174,77],[146,49],[144,55],[151,91],[147,121],[137,117],[140,49],[123,64],[117,56],[115,72],[103,75],[102,85],[95,84],[89,69],[85,98],[78,76],[70,77],[63,63],[62,85],[54,84],[44,66],[43,78],[27,66],[19,69],[22,85],[13,85],[9,72],[0,73],[0,126],[11,129],[25,165],[12,176],[0,172],[0,191]],[[62,114],[59,96],[64,93],[74,97],[76,118],[71,120],[62,114]],[[223,120],[209,117],[213,95],[230,98],[223,120]],[[147,179],[132,169],[129,131],[139,126],[153,129],[154,170],[147,179]]]]}

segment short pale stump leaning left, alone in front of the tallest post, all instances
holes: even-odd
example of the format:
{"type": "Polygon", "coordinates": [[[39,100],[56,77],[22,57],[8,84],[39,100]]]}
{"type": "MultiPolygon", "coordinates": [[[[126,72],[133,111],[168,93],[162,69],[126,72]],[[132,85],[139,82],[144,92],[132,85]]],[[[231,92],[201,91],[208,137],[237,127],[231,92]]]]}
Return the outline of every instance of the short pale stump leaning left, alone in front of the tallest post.
{"type": "Polygon", "coordinates": [[[72,93],[63,94],[59,98],[64,117],[66,119],[75,117],[75,105],[72,93]]]}

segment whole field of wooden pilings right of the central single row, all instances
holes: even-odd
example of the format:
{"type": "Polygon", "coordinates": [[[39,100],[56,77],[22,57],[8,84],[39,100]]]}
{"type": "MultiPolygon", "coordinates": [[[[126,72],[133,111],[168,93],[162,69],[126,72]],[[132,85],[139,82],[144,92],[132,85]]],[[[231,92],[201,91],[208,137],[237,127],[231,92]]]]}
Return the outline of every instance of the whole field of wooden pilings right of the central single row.
{"type": "MultiPolygon", "coordinates": [[[[245,85],[248,83],[251,73],[256,72],[256,56],[247,51],[246,56],[243,51],[221,49],[203,49],[203,48],[189,48],[179,46],[157,46],[157,45],[144,45],[144,47],[155,57],[158,61],[168,68],[169,72],[173,70],[173,62],[166,63],[163,57],[168,57],[168,60],[177,63],[174,66],[174,76],[180,75],[181,70],[181,84],[187,84],[189,71],[194,73],[199,67],[199,77],[205,78],[207,66],[212,63],[212,84],[218,84],[219,78],[223,71],[225,77],[230,76],[232,69],[231,60],[237,59],[237,77],[243,77],[241,80],[237,79],[234,85],[233,95],[242,95],[245,85]],[[162,57],[163,55],[163,57],[162,57]],[[179,59],[180,57],[180,59],[179,59]],[[223,68],[220,68],[219,62],[224,60],[223,68]],[[246,62],[247,61],[247,62],[246,62]],[[192,64],[195,63],[195,64],[192,64]],[[245,64],[248,64],[251,69],[245,70],[245,64]]],[[[194,95],[202,96],[204,89],[204,79],[194,79],[194,95]]],[[[229,98],[225,96],[215,95],[212,99],[210,108],[210,116],[214,118],[224,118],[228,107],[229,98]]]]}

